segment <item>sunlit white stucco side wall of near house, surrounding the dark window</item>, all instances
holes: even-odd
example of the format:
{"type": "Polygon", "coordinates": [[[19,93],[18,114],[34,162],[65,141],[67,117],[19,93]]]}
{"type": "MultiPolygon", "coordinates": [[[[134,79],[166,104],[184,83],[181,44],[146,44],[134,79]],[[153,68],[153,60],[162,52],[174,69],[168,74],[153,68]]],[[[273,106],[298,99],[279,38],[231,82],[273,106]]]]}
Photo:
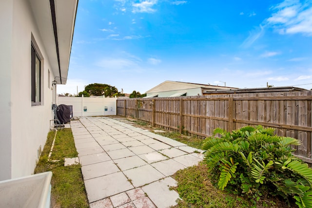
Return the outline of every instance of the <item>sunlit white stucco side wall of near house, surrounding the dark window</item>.
{"type": "MultiPolygon", "coordinates": [[[[33,173],[38,148],[40,145],[41,149],[44,147],[52,119],[52,90],[48,88],[51,80],[47,80],[49,60],[29,2],[1,0],[0,19],[0,58],[5,58],[5,61],[0,61],[1,89],[5,89],[1,95],[4,99],[0,99],[0,180],[4,180],[33,173]],[[43,58],[40,106],[31,105],[32,34],[43,58]]],[[[50,77],[54,77],[52,70],[50,77]]]]}

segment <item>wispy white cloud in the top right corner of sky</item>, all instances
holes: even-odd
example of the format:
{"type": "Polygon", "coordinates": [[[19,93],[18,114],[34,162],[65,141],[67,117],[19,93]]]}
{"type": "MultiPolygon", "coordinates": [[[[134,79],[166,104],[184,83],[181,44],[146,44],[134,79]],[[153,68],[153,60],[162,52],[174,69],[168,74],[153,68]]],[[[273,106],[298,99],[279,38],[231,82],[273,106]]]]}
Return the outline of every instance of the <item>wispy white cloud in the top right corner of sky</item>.
{"type": "Polygon", "coordinates": [[[312,36],[312,2],[285,0],[271,8],[274,13],[266,21],[279,34],[302,33],[312,36]]]}

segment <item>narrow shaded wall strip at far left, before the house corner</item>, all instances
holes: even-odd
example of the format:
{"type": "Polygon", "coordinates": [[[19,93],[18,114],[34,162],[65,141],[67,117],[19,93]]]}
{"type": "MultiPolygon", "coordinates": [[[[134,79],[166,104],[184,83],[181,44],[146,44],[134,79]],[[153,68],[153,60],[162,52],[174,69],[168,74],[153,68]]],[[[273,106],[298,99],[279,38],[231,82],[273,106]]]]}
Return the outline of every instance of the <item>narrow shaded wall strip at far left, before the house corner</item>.
{"type": "Polygon", "coordinates": [[[0,180],[11,177],[11,69],[12,68],[12,0],[0,6],[0,180]]]}

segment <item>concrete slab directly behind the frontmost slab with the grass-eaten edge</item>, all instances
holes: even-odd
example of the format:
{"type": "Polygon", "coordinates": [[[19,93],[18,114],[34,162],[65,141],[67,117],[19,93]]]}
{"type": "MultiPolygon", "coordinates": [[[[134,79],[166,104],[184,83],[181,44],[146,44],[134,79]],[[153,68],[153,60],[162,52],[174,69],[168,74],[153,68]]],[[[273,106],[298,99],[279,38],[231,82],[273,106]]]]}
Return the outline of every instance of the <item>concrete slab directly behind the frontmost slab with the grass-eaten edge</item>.
{"type": "Polygon", "coordinates": [[[151,165],[125,170],[123,173],[131,180],[133,186],[136,188],[165,177],[165,175],[154,169],[151,165]]]}

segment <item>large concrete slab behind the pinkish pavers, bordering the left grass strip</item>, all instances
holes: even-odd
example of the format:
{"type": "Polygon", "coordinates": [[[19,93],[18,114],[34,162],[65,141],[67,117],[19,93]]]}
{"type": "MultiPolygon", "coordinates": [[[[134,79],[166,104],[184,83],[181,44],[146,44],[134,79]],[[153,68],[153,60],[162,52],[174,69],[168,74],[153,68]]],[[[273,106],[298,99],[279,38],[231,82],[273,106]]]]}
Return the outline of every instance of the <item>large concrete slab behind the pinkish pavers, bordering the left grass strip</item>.
{"type": "Polygon", "coordinates": [[[95,202],[134,187],[122,172],[84,180],[89,202],[95,202]]]}

